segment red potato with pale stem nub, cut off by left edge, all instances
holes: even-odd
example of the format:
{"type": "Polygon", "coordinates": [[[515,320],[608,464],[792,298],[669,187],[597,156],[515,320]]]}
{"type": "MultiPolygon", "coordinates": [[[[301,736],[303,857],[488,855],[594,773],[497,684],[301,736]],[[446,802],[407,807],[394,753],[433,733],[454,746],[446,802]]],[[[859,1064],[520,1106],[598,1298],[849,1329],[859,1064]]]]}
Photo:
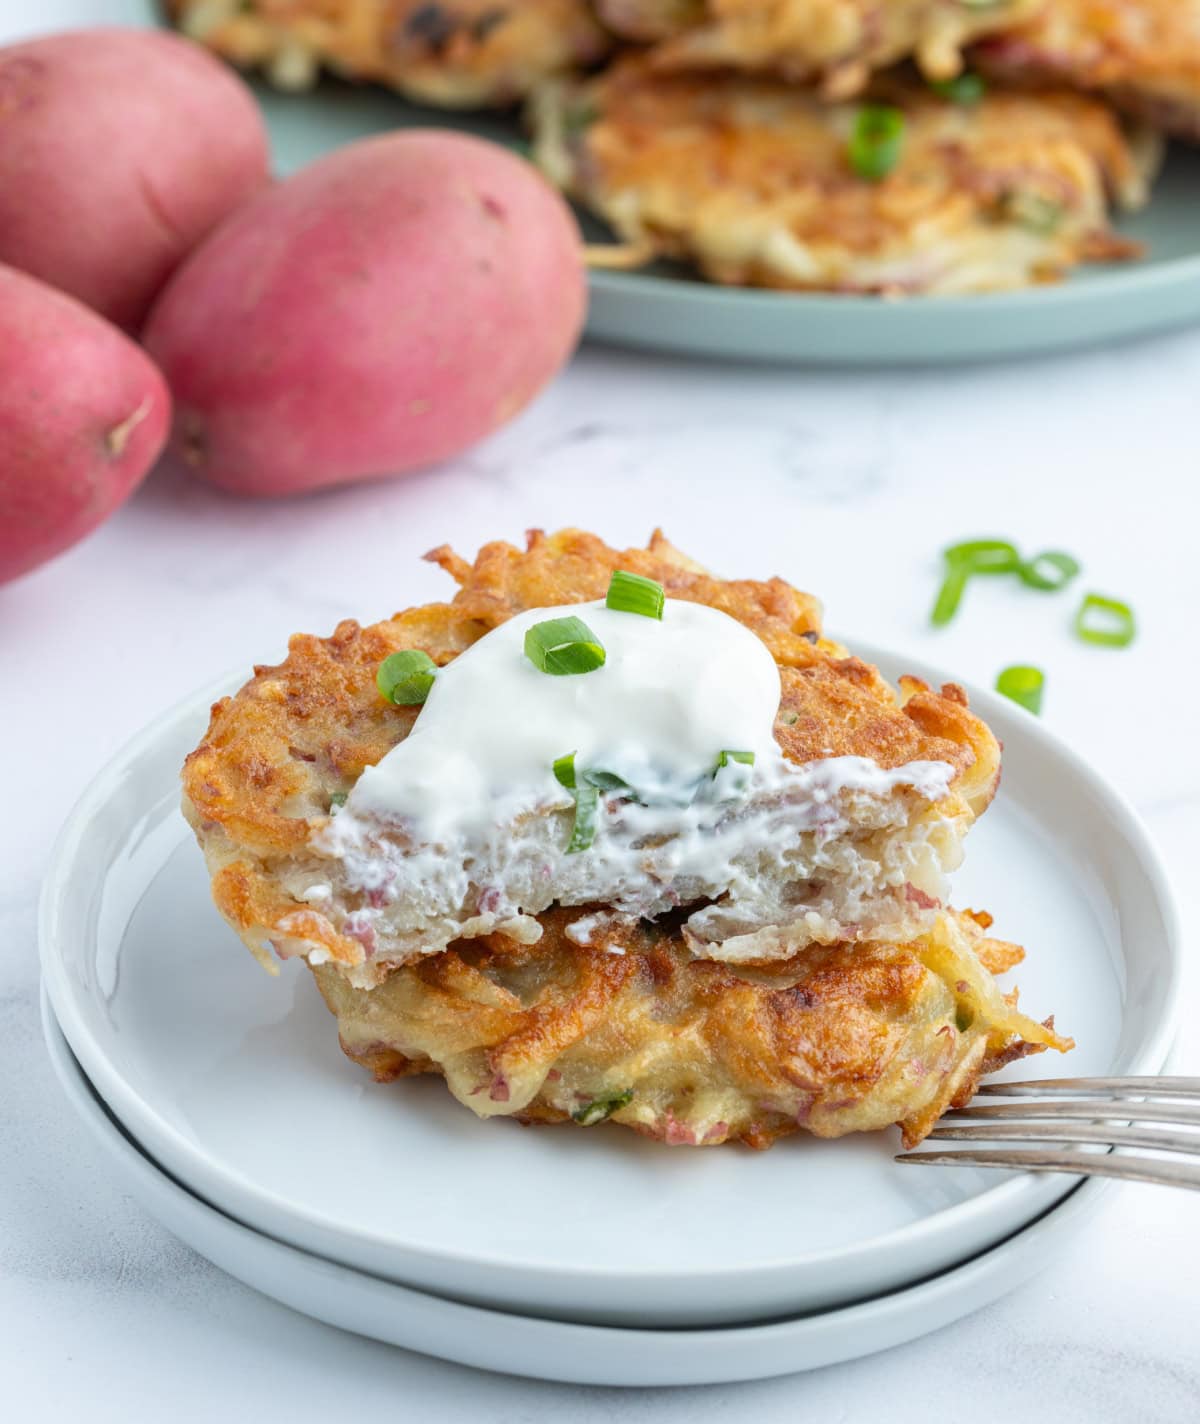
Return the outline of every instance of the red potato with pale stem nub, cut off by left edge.
{"type": "Polygon", "coordinates": [[[107,518],[169,424],[167,383],[128,336],[0,266],[0,584],[107,518]]]}

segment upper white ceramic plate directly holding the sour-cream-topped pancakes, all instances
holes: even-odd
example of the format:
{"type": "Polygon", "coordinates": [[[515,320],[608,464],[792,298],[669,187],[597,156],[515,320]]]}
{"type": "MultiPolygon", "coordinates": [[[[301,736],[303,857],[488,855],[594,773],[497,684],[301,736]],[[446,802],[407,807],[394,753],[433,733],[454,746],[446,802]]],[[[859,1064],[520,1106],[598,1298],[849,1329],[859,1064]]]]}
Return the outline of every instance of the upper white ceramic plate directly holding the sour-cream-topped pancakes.
{"type": "MultiPolygon", "coordinates": [[[[858,645],[894,676],[911,659],[858,645]]],[[[481,1124],[437,1079],[380,1087],[300,965],[269,978],[222,924],[178,809],[212,691],[137,738],[73,813],[41,951],[63,1031],[128,1131],[258,1230],[485,1306],[608,1324],[744,1323],[911,1284],[1028,1223],[1070,1179],[901,1168],[897,1138],[670,1151],[615,1128],[481,1124]]],[[[1038,721],[988,695],[1005,789],[959,903],[1029,946],[1022,1002],[1076,1074],[1156,1072],[1179,971],[1133,813],[1038,721]]],[[[1058,1062],[1018,1067],[1042,1075],[1058,1062]]]]}

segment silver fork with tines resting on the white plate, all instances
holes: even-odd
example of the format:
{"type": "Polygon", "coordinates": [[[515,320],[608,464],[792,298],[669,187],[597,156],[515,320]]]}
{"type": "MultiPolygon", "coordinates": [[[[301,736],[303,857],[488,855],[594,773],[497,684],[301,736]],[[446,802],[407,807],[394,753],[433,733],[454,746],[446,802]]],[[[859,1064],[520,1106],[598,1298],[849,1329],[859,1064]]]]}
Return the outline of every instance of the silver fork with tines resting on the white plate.
{"type": "Polygon", "coordinates": [[[925,1141],[1045,1145],[998,1152],[974,1148],[905,1152],[895,1161],[1119,1176],[1130,1182],[1200,1190],[1200,1132],[1140,1126],[1143,1122],[1200,1128],[1200,1078],[1041,1078],[984,1084],[965,1108],[944,1114],[925,1141]],[[1043,1101],[981,1104],[978,1099],[982,1096],[1036,1096],[1043,1101]],[[1089,1146],[1110,1151],[1089,1152],[1089,1146]],[[1126,1148],[1183,1153],[1190,1161],[1132,1156],[1123,1151],[1126,1148]]]}

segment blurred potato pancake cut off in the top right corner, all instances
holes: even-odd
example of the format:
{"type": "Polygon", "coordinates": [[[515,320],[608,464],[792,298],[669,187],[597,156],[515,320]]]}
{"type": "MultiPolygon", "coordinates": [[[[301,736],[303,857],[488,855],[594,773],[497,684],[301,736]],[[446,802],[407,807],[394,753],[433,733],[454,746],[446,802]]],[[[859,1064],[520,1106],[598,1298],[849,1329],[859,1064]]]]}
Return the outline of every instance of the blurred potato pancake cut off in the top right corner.
{"type": "Polygon", "coordinates": [[[1005,83],[1103,94],[1200,142],[1200,0],[1052,0],[974,61],[1005,83]]]}

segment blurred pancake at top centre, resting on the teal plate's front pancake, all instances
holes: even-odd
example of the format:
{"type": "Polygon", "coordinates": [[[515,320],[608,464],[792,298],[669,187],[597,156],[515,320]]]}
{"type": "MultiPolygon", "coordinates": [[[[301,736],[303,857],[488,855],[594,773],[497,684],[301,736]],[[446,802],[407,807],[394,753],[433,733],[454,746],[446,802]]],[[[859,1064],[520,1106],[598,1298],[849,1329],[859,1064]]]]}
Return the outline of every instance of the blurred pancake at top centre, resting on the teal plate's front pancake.
{"type": "Polygon", "coordinates": [[[962,70],[962,48],[1035,14],[1043,0],[599,0],[601,19],[662,41],[663,70],[735,68],[857,94],[875,70],[915,57],[930,78],[962,70]]]}

